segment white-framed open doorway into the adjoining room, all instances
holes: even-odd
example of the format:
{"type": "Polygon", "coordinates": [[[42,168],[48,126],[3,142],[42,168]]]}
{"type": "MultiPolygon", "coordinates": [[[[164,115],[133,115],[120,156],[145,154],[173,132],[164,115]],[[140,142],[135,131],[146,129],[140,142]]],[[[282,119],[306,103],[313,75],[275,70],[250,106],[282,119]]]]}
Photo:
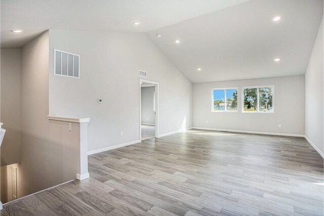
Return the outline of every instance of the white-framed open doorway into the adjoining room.
{"type": "Polygon", "coordinates": [[[140,80],[140,140],[157,137],[158,83],[140,80]]]}

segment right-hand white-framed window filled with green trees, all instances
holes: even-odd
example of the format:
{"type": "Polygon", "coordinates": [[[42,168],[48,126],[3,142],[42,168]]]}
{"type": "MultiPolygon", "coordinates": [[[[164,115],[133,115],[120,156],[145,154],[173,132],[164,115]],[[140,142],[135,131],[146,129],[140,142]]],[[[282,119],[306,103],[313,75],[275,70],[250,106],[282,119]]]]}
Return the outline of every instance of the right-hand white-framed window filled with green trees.
{"type": "Polygon", "coordinates": [[[273,113],[274,87],[245,87],[242,91],[242,112],[273,113]]]}

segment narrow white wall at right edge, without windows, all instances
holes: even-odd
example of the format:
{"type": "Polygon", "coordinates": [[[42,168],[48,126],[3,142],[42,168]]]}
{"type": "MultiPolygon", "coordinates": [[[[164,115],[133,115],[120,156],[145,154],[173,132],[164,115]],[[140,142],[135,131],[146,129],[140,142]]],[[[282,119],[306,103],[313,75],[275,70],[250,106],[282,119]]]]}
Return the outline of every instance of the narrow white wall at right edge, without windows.
{"type": "Polygon", "coordinates": [[[323,156],[323,19],[305,74],[305,135],[323,156]]]}

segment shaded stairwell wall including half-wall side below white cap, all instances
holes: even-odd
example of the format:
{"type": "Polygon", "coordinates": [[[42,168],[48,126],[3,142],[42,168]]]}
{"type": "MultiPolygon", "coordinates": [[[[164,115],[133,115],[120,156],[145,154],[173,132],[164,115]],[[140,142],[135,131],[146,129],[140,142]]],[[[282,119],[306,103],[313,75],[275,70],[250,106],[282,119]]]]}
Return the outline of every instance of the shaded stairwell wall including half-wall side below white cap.
{"type": "Polygon", "coordinates": [[[22,47],[19,197],[76,178],[79,127],[49,121],[49,32],[22,47]]]}

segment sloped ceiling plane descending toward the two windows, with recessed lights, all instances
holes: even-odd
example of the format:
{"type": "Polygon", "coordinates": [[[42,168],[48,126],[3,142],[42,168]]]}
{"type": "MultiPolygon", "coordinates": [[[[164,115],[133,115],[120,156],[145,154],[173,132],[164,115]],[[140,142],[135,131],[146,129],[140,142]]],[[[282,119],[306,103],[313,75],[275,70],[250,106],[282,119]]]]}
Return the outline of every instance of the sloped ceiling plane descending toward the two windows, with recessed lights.
{"type": "Polygon", "coordinates": [[[322,15],[322,0],[251,0],[146,35],[192,82],[297,75],[306,71],[322,15]]]}

